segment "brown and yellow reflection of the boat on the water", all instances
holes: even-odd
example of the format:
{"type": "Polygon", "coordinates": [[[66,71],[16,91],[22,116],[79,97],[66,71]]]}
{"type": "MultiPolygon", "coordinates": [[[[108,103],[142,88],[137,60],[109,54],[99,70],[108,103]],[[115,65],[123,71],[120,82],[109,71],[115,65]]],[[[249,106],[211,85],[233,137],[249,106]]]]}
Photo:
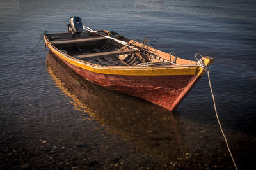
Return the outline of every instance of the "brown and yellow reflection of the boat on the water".
{"type": "Polygon", "coordinates": [[[166,159],[188,156],[179,113],[170,114],[156,104],[84,80],[51,52],[47,54],[47,70],[74,107],[84,112],[85,120],[97,121],[144,152],[166,159]]]}

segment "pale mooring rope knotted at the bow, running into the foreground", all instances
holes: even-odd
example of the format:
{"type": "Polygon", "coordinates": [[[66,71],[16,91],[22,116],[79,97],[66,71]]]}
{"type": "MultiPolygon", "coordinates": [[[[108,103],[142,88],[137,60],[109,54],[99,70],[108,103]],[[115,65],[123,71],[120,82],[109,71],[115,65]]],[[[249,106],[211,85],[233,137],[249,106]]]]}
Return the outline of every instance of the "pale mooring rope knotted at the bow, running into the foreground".
{"type": "MultiPolygon", "coordinates": [[[[200,56],[202,57],[202,55],[201,55],[200,53],[196,53],[196,55],[195,55],[196,60],[198,60],[197,55],[200,55],[200,56]]],[[[211,85],[211,80],[210,80],[210,74],[209,74],[210,68],[209,68],[209,66],[206,66],[206,65],[204,64],[202,58],[201,58],[200,60],[198,60],[198,66],[200,66],[202,69],[204,69],[205,71],[207,71],[209,86],[210,86],[210,89],[211,89],[212,100],[213,100],[213,105],[214,105],[214,110],[215,110],[215,114],[216,114],[216,118],[217,118],[218,124],[220,125],[220,131],[221,131],[221,133],[222,133],[222,135],[223,135],[223,138],[225,139],[225,143],[226,143],[226,145],[227,145],[228,152],[230,153],[230,157],[231,157],[231,159],[232,159],[232,161],[233,161],[233,164],[234,164],[236,170],[238,170],[238,168],[237,168],[237,166],[236,166],[236,162],[235,162],[235,160],[234,160],[234,157],[233,157],[233,155],[232,155],[232,153],[231,153],[231,150],[230,150],[230,148],[229,148],[229,146],[228,146],[227,138],[226,138],[226,136],[225,136],[225,134],[224,134],[223,128],[222,128],[222,126],[221,126],[221,124],[220,124],[220,120],[219,120],[219,117],[218,117],[218,112],[217,112],[217,108],[216,108],[216,103],[215,103],[215,99],[214,99],[214,94],[213,94],[212,85],[211,85]]]]}

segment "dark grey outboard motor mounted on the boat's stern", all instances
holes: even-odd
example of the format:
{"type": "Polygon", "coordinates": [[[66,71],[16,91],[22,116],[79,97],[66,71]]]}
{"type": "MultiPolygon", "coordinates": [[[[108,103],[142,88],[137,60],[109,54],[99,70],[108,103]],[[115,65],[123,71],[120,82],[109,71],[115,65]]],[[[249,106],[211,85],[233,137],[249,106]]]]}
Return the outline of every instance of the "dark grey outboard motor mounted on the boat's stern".
{"type": "Polygon", "coordinates": [[[83,24],[80,17],[71,17],[70,24],[68,24],[68,32],[72,32],[73,36],[80,36],[83,31],[83,24]]]}

